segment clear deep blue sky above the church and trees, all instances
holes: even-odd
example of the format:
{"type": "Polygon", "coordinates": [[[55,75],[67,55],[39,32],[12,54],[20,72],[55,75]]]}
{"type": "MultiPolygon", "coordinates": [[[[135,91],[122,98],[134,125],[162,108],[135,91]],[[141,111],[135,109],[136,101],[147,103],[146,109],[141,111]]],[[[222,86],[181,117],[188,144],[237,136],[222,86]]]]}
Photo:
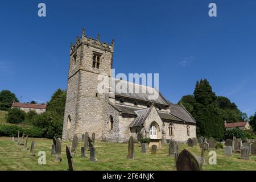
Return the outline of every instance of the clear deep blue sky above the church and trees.
{"type": "Polygon", "coordinates": [[[48,101],[67,88],[69,44],[85,34],[115,40],[119,73],[159,73],[171,102],[207,78],[213,91],[248,115],[256,110],[256,2],[2,1],[0,90],[22,101],[48,101]],[[39,18],[38,3],[47,6],[39,18]],[[208,16],[210,2],[217,17],[208,16]]]}

